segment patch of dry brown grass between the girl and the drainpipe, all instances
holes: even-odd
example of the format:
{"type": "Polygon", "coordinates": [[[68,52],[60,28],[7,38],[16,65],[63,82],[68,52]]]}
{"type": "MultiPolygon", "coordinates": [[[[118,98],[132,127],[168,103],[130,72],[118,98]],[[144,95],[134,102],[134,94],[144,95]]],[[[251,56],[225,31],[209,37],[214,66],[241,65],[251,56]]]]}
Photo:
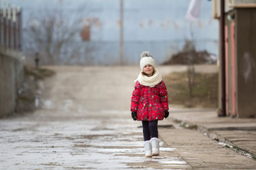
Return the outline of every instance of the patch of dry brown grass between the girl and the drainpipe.
{"type": "Polygon", "coordinates": [[[192,94],[189,96],[186,72],[175,72],[163,77],[169,103],[185,107],[218,107],[218,74],[196,73],[192,94]]]}

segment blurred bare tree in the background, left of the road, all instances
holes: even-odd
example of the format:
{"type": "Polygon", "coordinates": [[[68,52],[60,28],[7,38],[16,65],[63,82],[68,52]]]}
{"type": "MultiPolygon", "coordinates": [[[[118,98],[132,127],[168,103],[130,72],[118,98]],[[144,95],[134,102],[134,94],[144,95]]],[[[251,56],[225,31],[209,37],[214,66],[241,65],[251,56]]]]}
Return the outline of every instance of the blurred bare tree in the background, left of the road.
{"type": "Polygon", "coordinates": [[[43,64],[70,64],[81,55],[81,30],[80,14],[67,14],[62,8],[46,9],[43,14],[31,17],[26,24],[26,54],[33,56],[39,52],[43,64]]]}

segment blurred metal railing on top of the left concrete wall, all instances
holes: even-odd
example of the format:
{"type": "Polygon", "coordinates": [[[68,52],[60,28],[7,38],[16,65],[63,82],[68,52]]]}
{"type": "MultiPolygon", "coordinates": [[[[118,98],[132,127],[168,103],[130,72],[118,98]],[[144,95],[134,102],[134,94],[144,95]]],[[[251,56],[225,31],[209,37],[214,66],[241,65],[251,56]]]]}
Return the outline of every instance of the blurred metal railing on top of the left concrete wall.
{"type": "Polygon", "coordinates": [[[21,50],[21,8],[0,9],[0,45],[21,50]]]}

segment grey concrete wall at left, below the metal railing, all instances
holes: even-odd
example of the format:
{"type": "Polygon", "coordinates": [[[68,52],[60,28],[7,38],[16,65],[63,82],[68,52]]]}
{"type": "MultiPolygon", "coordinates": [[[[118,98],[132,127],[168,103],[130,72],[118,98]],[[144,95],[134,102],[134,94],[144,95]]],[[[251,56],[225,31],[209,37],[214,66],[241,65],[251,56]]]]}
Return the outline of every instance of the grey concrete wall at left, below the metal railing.
{"type": "Polygon", "coordinates": [[[0,117],[14,113],[18,89],[23,83],[22,53],[0,46],[0,117]]]}

